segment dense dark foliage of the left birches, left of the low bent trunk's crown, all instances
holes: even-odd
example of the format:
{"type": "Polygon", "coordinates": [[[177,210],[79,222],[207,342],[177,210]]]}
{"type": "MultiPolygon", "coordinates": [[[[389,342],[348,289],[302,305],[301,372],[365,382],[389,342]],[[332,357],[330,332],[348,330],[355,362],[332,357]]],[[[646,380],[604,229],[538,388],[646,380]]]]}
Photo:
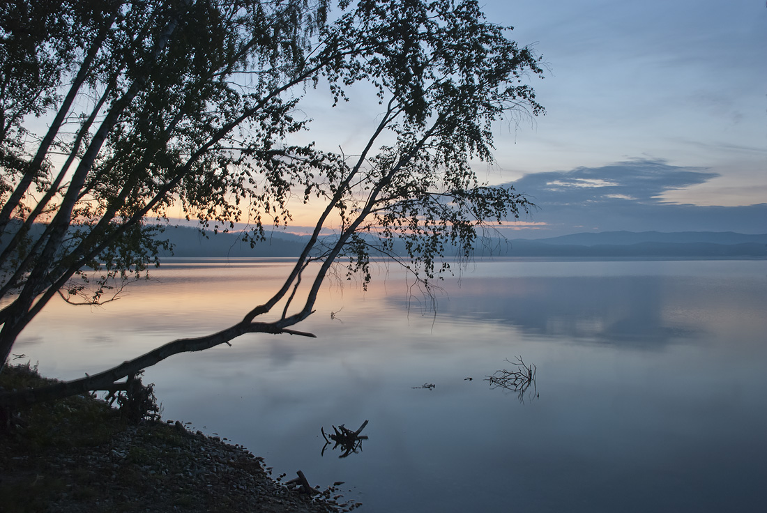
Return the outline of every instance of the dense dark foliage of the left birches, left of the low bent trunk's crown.
{"type": "Polygon", "coordinates": [[[282,144],[304,125],[284,93],[325,64],[307,59],[324,12],[323,0],[4,4],[0,295],[15,295],[3,349],[58,291],[98,303],[157,265],[146,220],[172,202],[232,225],[239,202],[280,201],[281,176],[315,159],[282,144]]]}

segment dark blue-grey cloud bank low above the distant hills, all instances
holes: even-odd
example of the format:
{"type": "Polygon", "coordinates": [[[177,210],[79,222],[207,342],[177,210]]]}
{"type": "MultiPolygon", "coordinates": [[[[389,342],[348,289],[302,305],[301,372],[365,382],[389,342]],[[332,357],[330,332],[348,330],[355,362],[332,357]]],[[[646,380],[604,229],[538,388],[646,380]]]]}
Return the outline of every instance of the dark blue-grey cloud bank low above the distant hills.
{"type": "Polygon", "coordinates": [[[670,166],[662,159],[636,159],[602,167],[532,173],[513,184],[538,210],[528,222],[545,237],[586,231],[767,232],[767,203],[696,206],[663,198],[666,192],[719,177],[703,168],[670,166]]]}

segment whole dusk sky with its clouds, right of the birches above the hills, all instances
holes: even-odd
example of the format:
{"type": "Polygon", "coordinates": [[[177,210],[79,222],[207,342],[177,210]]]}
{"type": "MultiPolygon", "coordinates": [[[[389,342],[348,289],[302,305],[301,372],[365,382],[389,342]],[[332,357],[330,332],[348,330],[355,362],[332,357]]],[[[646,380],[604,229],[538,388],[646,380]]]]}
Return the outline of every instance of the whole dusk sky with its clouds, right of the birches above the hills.
{"type": "MultiPolygon", "coordinates": [[[[481,179],[538,209],[512,237],[630,230],[767,233],[763,0],[486,0],[543,57],[545,116],[495,127],[481,179]]],[[[354,146],[377,111],[312,111],[321,146],[354,146]]],[[[300,216],[297,221],[301,219],[300,216]]]]}

